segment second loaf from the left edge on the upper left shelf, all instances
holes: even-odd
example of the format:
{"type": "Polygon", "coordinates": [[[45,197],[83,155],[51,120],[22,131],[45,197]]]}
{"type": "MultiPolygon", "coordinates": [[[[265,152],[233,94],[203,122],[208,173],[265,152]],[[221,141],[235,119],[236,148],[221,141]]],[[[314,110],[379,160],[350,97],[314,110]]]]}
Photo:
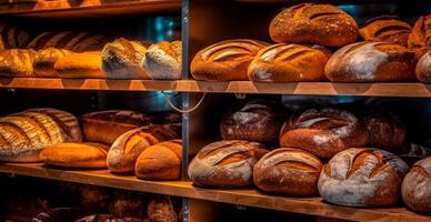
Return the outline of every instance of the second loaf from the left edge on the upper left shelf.
{"type": "Polygon", "coordinates": [[[48,48],[39,50],[33,59],[33,72],[36,77],[60,78],[60,73],[54,70],[57,60],[70,54],[67,49],[48,48]]]}

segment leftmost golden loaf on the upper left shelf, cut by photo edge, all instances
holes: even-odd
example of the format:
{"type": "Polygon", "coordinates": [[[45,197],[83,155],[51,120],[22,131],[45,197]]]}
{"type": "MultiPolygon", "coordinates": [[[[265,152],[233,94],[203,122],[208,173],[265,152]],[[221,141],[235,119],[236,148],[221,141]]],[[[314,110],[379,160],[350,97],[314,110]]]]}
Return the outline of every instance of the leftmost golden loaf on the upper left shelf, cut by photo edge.
{"type": "Polygon", "coordinates": [[[9,49],[0,51],[0,77],[33,77],[36,51],[9,49]]]}

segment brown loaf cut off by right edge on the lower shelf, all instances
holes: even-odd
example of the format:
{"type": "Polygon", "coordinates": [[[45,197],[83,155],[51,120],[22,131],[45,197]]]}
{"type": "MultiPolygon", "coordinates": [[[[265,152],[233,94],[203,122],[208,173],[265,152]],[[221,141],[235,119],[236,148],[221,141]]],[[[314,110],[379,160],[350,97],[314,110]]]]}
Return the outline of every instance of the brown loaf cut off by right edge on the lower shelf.
{"type": "Polygon", "coordinates": [[[414,163],[402,182],[401,193],[409,209],[431,213],[431,158],[414,163]]]}

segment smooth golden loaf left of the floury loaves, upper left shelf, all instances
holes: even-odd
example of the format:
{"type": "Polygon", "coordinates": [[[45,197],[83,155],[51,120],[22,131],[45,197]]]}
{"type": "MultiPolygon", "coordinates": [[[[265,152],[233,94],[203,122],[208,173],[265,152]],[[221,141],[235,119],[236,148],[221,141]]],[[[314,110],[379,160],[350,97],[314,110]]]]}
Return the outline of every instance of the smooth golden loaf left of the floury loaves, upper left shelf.
{"type": "Polygon", "coordinates": [[[61,78],[106,79],[101,70],[102,57],[99,51],[70,53],[58,59],[54,70],[61,78]]]}

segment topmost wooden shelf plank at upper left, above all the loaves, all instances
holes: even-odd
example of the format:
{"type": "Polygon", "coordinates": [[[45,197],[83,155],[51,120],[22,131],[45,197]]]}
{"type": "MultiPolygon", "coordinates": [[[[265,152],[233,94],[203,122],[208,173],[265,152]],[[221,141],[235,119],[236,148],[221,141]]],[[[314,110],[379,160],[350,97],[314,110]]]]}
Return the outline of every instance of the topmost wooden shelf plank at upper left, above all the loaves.
{"type": "Polygon", "coordinates": [[[0,14],[41,18],[180,13],[180,0],[27,0],[0,3],[0,14]]]}

